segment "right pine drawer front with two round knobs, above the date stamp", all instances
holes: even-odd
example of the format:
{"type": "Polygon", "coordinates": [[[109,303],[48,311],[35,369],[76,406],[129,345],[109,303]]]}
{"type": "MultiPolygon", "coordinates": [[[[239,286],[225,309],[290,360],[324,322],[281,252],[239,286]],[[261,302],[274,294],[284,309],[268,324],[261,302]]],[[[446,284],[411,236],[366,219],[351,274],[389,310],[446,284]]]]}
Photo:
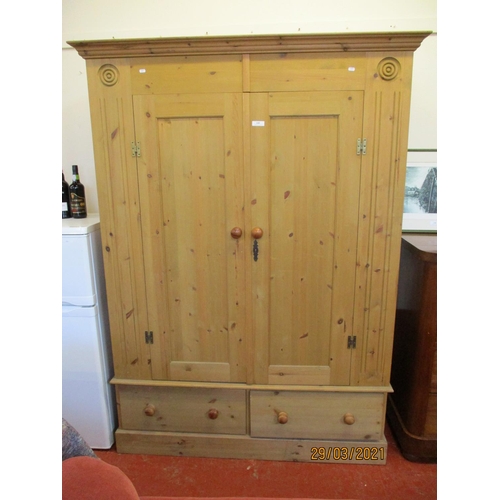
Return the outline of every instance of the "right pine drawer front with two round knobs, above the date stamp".
{"type": "Polygon", "coordinates": [[[378,440],[385,398],[381,393],[251,391],[251,435],[378,440]]]}

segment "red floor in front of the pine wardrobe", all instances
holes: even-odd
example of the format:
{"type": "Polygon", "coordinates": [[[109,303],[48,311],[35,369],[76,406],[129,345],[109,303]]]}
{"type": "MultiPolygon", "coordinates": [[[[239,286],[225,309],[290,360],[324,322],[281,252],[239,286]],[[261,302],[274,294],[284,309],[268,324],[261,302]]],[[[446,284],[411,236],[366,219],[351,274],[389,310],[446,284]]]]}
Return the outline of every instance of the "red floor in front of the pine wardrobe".
{"type": "Polygon", "coordinates": [[[339,465],[95,450],[120,468],[139,495],[412,500],[437,498],[437,465],[406,460],[386,425],[386,465],[339,465]]]}

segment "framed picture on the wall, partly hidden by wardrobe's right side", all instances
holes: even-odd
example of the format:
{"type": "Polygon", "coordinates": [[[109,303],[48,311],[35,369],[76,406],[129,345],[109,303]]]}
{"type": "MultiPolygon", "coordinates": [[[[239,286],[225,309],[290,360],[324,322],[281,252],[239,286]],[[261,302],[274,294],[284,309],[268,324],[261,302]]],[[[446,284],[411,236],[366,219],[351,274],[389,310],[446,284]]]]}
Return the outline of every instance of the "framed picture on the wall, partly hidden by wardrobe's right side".
{"type": "Polygon", "coordinates": [[[437,232],[437,163],[408,156],[403,231],[437,232]]]}

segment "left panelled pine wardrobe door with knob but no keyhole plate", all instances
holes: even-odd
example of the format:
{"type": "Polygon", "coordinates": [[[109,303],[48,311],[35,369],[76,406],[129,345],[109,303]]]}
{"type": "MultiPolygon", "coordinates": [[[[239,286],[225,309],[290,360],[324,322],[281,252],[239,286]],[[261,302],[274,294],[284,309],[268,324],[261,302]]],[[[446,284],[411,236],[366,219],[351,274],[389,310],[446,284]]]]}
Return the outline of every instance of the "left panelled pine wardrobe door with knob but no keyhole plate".
{"type": "Polygon", "coordinates": [[[241,115],[238,93],[134,96],[154,379],[246,381],[241,115]]]}

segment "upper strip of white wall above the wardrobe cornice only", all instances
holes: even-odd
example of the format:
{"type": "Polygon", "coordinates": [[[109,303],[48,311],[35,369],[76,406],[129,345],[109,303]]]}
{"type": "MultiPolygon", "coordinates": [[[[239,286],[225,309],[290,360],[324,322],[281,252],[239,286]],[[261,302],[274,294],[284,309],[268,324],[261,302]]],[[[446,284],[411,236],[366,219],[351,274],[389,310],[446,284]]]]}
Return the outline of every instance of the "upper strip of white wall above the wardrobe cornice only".
{"type": "Polygon", "coordinates": [[[436,0],[63,0],[69,39],[435,30],[436,0]]]}

